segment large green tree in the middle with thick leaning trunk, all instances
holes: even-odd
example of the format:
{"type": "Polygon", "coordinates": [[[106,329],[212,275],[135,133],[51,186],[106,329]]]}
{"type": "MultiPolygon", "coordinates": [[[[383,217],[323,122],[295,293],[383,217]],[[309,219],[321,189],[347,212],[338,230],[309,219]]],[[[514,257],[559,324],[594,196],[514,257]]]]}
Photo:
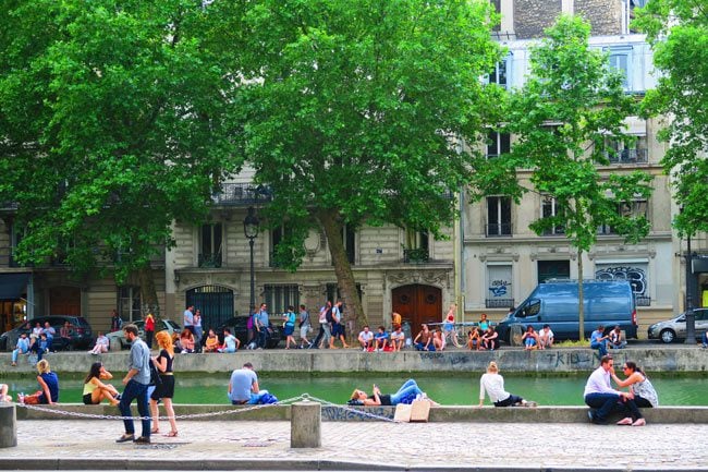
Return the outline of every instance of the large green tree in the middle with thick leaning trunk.
{"type": "MultiPolygon", "coordinates": [[[[215,3],[217,5],[217,3],[215,3]]],[[[366,324],[344,228],[392,222],[435,237],[452,223],[469,155],[495,94],[489,2],[255,0],[223,34],[244,58],[239,107],[246,159],[273,191],[265,209],[291,231],[276,256],[295,269],[321,228],[347,319],[366,324]]]]}

